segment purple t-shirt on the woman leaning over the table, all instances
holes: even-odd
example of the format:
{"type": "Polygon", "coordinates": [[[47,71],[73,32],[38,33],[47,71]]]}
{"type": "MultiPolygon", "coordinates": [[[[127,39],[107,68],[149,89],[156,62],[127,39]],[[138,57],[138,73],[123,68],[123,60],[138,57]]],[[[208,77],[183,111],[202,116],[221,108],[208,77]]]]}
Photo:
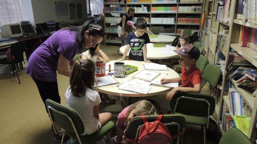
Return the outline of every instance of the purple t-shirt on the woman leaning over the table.
{"type": "Polygon", "coordinates": [[[29,57],[26,73],[40,81],[57,81],[57,66],[60,54],[71,61],[79,53],[77,31],[59,30],[51,35],[29,57]]]}

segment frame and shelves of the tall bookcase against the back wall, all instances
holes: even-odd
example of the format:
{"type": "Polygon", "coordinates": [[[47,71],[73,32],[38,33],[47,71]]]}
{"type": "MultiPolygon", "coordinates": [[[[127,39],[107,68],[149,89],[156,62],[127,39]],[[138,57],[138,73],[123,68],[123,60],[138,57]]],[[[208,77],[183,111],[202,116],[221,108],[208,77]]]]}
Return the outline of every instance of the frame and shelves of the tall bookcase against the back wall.
{"type": "MultiPolygon", "coordinates": [[[[120,0],[119,0],[120,1],[120,0]]],[[[110,41],[108,40],[110,35],[113,36],[118,36],[117,31],[107,31],[107,29],[109,29],[109,26],[112,25],[118,25],[120,22],[120,19],[122,17],[122,15],[124,15],[126,12],[105,12],[105,7],[110,7],[110,5],[117,5],[120,7],[130,7],[130,6],[136,6],[136,7],[141,7],[141,5],[147,6],[147,11],[148,12],[142,12],[142,13],[135,13],[134,17],[148,17],[150,19],[150,22],[147,23],[147,26],[151,29],[151,27],[153,26],[164,26],[164,27],[169,27],[171,28],[171,32],[167,32],[167,33],[161,33],[163,35],[174,35],[174,36],[178,36],[181,35],[181,33],[177,33],[177,29],[182,28],[183,26],[189,26],[189,27],[193,27],[197,29],[192,29],[192,30],[196,30],[199,31],[202,29],[202,27],[199,24],[192,24],[192,23],[178,23],[177,19],[183,16],[197,16],[200,19],[202,18],[202,9],[203,9],[203,3],[183,3],[180,2],[180,0],[177,0],[177,2],[160,2],[160,1],[147,1],[145,3],[130,3],[130,2],[125,2],[125,3],[118,3],[118,2],[104,2],[104,23],[105,23],[105,31],[107,33],[107,36],[105,38],[105,45],[106,43],[121,43],[120,41],[110,41]],[[180,11],[176,11],[176,12],[152,12],[152,7],[180,7],[180,6],[201,6],[201,10],[197,13],[192,13],[192,12],[180,12],[180,11]],[[114,15],[119,15],[118,17],[110,17],[110,14],[114,14],[114,15]],[[159,17],[161,15],[169,15],[175,18],[174,23],[151,23],[151,18],[155,18],[155,17],[159,17]],[[108,22],[107,20],[108,19],[108,22]],[[113,21],[109,21],[110,19],[114,19],[113,21]],[[119,19],[119,21],[117,21],[117,19],[119,19]]],[[[127,10],[126,10],[127,11],[127,10]]],[[[134,22],[135,23],[135,22],[134,22]]]]}

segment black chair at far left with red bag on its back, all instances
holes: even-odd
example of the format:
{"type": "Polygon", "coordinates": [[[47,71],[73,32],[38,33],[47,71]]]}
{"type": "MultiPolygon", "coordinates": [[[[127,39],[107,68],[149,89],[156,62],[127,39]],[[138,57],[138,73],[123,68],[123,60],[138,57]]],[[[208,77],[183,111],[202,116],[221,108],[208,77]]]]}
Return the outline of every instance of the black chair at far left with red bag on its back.
{"type": "Polygon", "coordinates": [[[16,71],[19,83],[20,83],[20,78],[18,76],[16,65],[17,65],[17,63],[20,63],[24,60],[23,52],[25,51],[25,47],[26,47],[26,42],[16,42],[11,45],[11,53],[0,52],[0,54],[11,54],[12,55],[11,56],[12,62],[7,61],[7,58],[2,58],[2,59],[0,59],[0,64],[2,64],[1,66],[11,64],[12,69],[13,69],[13,76],[15,76],[15,71],[16,71]],[[14,59],[13,59],[13,56],[14,56],[14,59]]]}

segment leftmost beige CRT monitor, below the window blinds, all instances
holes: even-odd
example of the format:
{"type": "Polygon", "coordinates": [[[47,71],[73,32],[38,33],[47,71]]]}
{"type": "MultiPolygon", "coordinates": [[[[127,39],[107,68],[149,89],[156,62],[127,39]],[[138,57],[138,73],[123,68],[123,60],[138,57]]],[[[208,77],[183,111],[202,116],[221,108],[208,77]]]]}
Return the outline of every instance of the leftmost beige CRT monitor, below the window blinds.
{"type": "Polygon", "coordinates": [[[0,27],[3,38],[22,36],[20,24],[6,24],[0,27]]]}

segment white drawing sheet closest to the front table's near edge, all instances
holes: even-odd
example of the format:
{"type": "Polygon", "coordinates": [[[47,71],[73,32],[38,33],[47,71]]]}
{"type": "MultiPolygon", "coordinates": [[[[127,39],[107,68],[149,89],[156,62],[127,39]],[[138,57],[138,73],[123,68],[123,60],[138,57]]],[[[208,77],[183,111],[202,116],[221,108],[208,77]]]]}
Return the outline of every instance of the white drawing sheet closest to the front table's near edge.
{"type": "Polygon", "coordinates": [[[119,89],[121,90],[128,90],[131,92],[143,93],[143,94],[147,94],[151,88],[152,88],[151,86],[129,83],[129,81],[126,81],[119,86],[119,89]]]}

